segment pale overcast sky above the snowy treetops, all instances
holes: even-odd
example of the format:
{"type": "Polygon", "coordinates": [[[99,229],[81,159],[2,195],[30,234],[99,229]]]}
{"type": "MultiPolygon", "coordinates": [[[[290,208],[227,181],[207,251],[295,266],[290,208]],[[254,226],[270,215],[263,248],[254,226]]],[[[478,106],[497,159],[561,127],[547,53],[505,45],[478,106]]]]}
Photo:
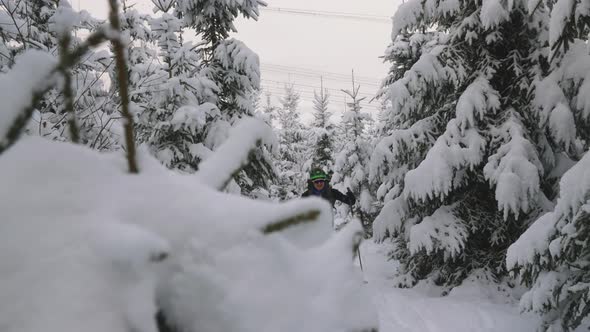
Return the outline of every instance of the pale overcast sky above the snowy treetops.
{"type": "MultiPolygon", "coordinates": [[[[106,17],[104,0],[73,0],[74,7],[86,9],[96,17],[106,17]]],[[[131,1],[128,1],[131,3],[131,1]]],[[[330,89],[330,109],[335,117],[344,109],[340,89],[350,89],[354,69],[361,94],[372,96],[388,66],[379,57],[390,41],[391,23],[401,0],[268,0],[269,9],[258,21],[240,19],[233,37],[258,53],[263,86],[277,102],[285,82],[294,84],[301,94],[304,120],[311,118],[313,90],[330,89]],[[278,8],[296,9],[306,14],[278,12],[278,8]],[[338,13],[345,15],[346,18],[338,13]],[[352,17],[351,17],[352,16],[352,17]],[[358,17],[362,16],[362,17],[358,17]],[[366,18],[368,19],[366,19],[366,18]]],[[[137,8],[151,11],[150,0],[137,0],[137,8]]],[[[377,105],[367,105],[374,113],[377,105]]]]}

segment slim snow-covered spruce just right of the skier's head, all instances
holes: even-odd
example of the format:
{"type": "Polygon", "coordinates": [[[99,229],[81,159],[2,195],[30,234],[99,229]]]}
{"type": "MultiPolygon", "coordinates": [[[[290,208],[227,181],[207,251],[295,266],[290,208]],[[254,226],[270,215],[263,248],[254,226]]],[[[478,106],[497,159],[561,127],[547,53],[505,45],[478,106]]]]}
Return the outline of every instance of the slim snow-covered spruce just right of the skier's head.
{"type": "Polygon", "coordinates": [[[350,102],[347,103],[348,110],[342,115],[345,143],[336,155],[332,182],[336,187],[350,188],[354,193],[358,202],[355,211],[359,214],[366,232],[371,234],[370,225],[375,211],[368,172],[372,147],[366,127],[371,116],[362,111],[360,103],[365,97],[359,98],[359,91],[360,85],[355,84],[353,73],[352,90],[343,90],[350,102]]]}

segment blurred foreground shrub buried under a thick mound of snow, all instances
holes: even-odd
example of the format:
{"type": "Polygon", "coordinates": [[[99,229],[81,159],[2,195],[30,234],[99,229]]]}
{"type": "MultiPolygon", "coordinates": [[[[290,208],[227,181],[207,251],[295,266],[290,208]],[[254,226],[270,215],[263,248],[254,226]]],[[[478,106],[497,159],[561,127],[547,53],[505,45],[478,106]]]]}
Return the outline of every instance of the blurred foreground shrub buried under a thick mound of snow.
{"type": "Polygon", "coordinates": [[[358,223],[333,233],[330,206],[317,198],[274,204],[221,192],[250,151],[273,140],[268,126],[240,120],[196,174],[169,171],[146,151],[136,156],[124,45],[105,29],[59,61],[31,50],[0,74],[0,329],[376,331],[353,265],[358,223]],[[64,68],[106,39],[126,158],[18,141],[64,68]]]}

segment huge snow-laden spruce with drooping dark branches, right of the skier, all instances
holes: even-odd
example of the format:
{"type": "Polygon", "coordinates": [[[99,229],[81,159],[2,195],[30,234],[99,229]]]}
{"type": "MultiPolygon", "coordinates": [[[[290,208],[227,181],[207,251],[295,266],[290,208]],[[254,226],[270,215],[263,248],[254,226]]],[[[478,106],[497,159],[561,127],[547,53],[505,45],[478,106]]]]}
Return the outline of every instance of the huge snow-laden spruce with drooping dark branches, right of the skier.
{"type": "Polygon", "coordinates": [[[525,1],[409,1],[395,14],[400,48],[400,33],[438,31],[387,88],[382,127],[391,134],[371,158],[384,202],[374,232],[377,240],[394,237],[400,284],[457,285],[477,269],[505,275],[508,246],[551,196],[555,157],[578,154],[576,132],[563,137],[557,125],[568,113],[541,101],[555,101],[539,89],[549,70],[547,22],[541,2],[525,1]]]}

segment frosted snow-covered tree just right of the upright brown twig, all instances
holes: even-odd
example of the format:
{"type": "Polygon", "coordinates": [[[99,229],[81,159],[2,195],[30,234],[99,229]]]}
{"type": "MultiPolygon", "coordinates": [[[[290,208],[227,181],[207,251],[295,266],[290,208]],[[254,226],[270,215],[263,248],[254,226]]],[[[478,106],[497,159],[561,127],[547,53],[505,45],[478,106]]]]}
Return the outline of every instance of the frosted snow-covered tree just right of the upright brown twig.
{"type": "Polygon", "coordinates": [[[179,19],[162,13],[149,25],[163,64],[155,70],[151,63],[139,67],[147,74],[136,94],[143,98],[137,103],[140,141],[166,166],[194,172],[212,149],[206,127],[219,116],[218,87],[201,74],[202,60],[194,45],[182,41],[179,19]]]}

